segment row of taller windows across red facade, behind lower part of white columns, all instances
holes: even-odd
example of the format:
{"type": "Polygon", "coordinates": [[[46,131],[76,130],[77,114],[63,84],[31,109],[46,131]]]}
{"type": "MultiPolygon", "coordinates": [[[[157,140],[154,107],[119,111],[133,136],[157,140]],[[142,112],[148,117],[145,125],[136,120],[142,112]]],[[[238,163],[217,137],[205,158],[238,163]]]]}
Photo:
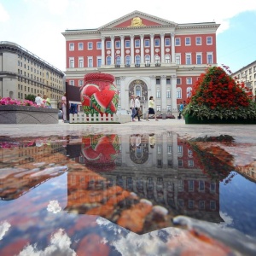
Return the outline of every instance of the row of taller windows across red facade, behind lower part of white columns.
{"type": "MultiPolygon", "coordinates": [[[[202,53],[195,53],[195,63],[192,61],[192,54],[191,53],[186,53],[185,54],[185,64],[186,65],[201,65],[202,64],[202,53]]],[[[150,65],[150,55],[145,55],[144,57],[145,61],[145,66],[150,65]]],[[[171,55],[165,55],[165,63],[170,63],[171,62],[171,55]]],[[[181,65],[181,54],[177,53],[175,55],[175,62],[177,65],[181,65]]],[[[155,64],[160,64],[160,55],[154,55],[154,63],[155,64]]],[[[213,53],[208,52],[207,53],[207,64],[212,64],[213,63],[213,53]]],[[[115,56],[114,59],[114,64],[115,65],[120,65],[121,64],[121,57],[119,55],[115,56]]],[[[135,56],[135,65],[140,65],[141,64],[141,55],[136,55],[135,56]]],[[[111,65],[111,56],[106,57],[106,65],[111,65]]],[[[130,55],[125,55],[125,66],[130,66],[131,65],[131,56],[130,55]]],[[[102,66],[102,56],[97,56],[96,57],[96,67],[101,67],[102,66]]],[[[79,57],[79,67],[84,67],[84,57],[79,57]]],[[[93,56],[87,56],[87,67],[94,67],[93,64],[93,56]]],[[[69,57],[69,68],[74,68],[74,57],[69,57]]]]}

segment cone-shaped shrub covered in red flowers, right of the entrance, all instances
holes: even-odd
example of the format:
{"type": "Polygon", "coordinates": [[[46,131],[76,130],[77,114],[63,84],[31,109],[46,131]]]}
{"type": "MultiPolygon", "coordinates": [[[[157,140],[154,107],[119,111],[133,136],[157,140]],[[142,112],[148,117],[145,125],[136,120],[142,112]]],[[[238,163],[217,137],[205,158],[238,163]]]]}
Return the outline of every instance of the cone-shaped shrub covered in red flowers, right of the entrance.
{"type": "Polygon", "coordinates": [[[209,67],[196,81],[183,110],[199,119],[256,119],[256,104],[244,84],[236,83],[222,67],[209,67]]]}

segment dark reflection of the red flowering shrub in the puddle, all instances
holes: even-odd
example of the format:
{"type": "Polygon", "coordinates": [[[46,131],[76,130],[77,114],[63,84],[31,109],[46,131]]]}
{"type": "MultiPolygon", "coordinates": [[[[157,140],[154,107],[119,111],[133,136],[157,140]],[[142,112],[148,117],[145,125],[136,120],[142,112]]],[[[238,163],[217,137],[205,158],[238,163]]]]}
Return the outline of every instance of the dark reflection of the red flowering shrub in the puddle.
{"type": "Polygon", "coordinates": [[[228,135],[222,135],[220,137],[199,137],[190,141],[190,146],[194,151],[195,161],[198,162],[197,164],[201,170],[207,173],[213,180],[222,181],[234,170],[234,159],[224,148],[220,148],[214,144],[210,144],[209,146],[209,142],[231,145],[234,143],[234,138],[228,135]],[[207,147],[205,147],[204,143],[207,143],[207,147]]]}

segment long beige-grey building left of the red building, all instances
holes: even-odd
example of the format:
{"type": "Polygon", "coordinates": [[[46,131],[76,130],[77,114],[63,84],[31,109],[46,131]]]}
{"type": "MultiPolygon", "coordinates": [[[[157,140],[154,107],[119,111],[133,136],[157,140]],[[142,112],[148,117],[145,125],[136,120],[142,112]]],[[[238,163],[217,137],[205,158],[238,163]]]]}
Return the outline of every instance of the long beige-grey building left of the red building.
{"type": "MultiPolygon", "coordinates": [[[[0,96],[24,100],[46,94],[60,102],[65,74],[19,44],[0,41],[0,96]]],[[[55,104],[56,107],[56,104],[55,104]]]]}

